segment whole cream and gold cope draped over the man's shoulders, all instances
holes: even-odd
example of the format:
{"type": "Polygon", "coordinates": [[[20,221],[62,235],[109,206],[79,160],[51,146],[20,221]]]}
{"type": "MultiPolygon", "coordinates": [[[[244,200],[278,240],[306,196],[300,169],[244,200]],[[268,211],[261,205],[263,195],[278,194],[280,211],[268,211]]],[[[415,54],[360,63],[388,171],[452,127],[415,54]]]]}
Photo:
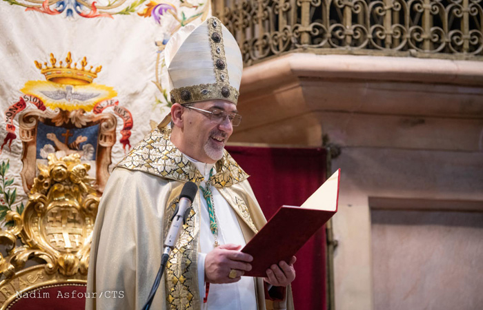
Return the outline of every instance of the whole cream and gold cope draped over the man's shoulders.
{"type": "MultiPolygon", "coordinates": [[[[248,175],[228,152],[217,161],[215,171],[212,184],[233,209],[237,228],[248,242],[266,223],[246,180],[248,175]]],[[[92,236],[88,293],[96,292],[97,298],[88,298],[86,309],[143,307],[159,268],[170,218],[187,181],[199,185],[204,176],[171,143],[167,127],[150,132],[117,165],[101,199],[92,236]],[[108,298],[106,291],[117,291],[118,297],[112,298],[110,293],[108,298]],[[123,298],[119,298],[121,291],[123,298]]],[[[203,309],[203,281],[198,270],[203,238],[201,199],[198,193],[151,309],[203,309]]],[[[265,310],[263,279],[250,279],[255,281],[257,309],[265,310]]],[[[286,300],[269,304],[274,309],[293,309],[290,287],[285,296],[286,300]]]]}

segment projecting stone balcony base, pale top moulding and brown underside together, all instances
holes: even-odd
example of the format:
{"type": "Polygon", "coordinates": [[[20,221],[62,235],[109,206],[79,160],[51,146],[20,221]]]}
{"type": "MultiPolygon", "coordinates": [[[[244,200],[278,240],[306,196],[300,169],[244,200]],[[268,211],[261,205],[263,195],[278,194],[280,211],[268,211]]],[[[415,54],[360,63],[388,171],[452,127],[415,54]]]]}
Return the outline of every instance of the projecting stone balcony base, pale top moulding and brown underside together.
{"type": "Polygon", "coordinates": [[[244,69],[230,141],[482,151],[483,62],[288,54],[244,69]]]}

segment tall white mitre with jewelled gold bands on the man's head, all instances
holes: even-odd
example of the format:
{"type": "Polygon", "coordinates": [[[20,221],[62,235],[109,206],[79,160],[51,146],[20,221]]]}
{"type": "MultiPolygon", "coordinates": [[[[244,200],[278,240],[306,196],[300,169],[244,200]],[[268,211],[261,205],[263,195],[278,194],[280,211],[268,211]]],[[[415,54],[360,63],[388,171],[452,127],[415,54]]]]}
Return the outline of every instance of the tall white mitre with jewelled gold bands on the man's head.
{"type": "Polygon", "coordinates": [[[222,99],[237,104],[243,59],[216,17],[178,30],[164,50],[172,103],[222,99]]]}

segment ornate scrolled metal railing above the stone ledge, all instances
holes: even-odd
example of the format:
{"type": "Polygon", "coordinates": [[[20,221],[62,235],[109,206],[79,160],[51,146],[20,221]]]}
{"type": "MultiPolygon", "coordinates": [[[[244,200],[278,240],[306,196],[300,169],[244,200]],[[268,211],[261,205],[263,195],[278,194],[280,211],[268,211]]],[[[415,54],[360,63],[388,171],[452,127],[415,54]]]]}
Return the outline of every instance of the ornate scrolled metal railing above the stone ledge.
{"type": "Polygon", "coordinates": [[[483,60],[483,0],[213,0],[246,65],[286,52],[483,60]]]}

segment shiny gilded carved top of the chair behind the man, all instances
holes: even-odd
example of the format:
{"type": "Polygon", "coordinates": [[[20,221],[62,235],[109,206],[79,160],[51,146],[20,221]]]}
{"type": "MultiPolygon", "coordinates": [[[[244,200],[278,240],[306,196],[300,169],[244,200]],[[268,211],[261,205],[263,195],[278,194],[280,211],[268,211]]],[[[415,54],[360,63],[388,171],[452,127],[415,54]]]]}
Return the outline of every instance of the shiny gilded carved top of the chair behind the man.
{"type": "Polygon", "coordinates": [[[39,165],[40,174],[21,216],[8,212],[7,220],[14,220],[14,225],[0,230],[8,253],[0,256],[0,302],[27,287],[86,282],[99,197],[87,176],[90,166],[79,158],[79,154],[61,159],[50,154],[48,166],[39,165]],[[31,259],[44,263],[21,270],[31,259]]]}

